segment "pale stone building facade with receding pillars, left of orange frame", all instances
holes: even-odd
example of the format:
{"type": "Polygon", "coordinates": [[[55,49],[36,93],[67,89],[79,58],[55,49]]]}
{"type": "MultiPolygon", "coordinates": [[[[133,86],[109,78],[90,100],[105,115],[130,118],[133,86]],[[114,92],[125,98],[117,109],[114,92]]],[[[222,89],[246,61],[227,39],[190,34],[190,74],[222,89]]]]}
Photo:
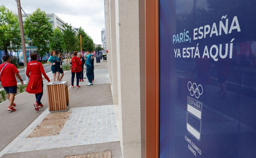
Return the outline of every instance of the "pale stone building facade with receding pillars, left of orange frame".
{"type": "Polygon", "coordinates": [[[111,90],[118,109],[117,123],[124,158],[145,155],[142,154],[145,152],[142,149],[142,146],[145,147],[144,143],[142,145],[142,137],[143,142],[145,141],[145,130],[141,129],[141,126],[145,127],[145,114],[141,115],[141,112],[145,112],[145,99],[141,99],[145,96],[143,4],[139,0],[105,1],[111,90]],[[141,104],[144,105],[143,109],[141,104]]]}

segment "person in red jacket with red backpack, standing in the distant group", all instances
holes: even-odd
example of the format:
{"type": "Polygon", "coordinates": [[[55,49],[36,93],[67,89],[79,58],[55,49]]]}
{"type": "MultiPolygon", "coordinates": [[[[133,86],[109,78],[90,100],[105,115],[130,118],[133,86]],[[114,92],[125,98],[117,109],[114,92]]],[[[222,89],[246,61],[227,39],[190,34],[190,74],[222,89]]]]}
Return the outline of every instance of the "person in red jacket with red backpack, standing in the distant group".
{"type": "Polygon", "coordinates": [[[79,76],[82,71],[81,60],[77,57],[77,52],[73,52],[74,56],[71,58],[71,87],[74,88],[74,78],[76,75],[76,88],[80,88],[79,86],[79,76]]]}

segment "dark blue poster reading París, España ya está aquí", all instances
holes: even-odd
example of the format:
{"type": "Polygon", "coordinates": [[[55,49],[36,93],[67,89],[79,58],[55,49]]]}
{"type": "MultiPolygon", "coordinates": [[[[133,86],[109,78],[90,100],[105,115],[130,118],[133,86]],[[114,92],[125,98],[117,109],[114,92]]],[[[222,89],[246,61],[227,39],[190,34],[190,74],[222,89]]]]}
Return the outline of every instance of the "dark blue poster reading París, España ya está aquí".
{"type": "Polygon", "coordinates": [[[256,157],[256,1],[159,0],[159,157],[256,157]]]}

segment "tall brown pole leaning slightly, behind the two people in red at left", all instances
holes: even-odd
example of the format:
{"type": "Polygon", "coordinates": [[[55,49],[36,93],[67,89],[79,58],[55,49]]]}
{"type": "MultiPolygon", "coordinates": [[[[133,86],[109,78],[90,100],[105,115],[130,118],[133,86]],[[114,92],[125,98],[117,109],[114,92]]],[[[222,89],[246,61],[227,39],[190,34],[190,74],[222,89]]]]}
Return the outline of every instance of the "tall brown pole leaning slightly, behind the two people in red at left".
{"type": "MultiPolygon", "coordinates": [[[[18,7],[18,15],[19,15],[19,22],[20,22],[20,31],[21,31],[21,45],[23,51],[23,60],[24,60],[24,68],[25,72],[27,69],[27,54],[26,54],[26,46],[25,46],[25,38],[24,38],[24,31],[23,31],[23,21],[22,21],[22,14],[21,14],[21,3],[20,0],[17,0],[17,7],[18,7]]],[[[26,82],[28,83],[28,77],[26,76],[26,82]]]]}

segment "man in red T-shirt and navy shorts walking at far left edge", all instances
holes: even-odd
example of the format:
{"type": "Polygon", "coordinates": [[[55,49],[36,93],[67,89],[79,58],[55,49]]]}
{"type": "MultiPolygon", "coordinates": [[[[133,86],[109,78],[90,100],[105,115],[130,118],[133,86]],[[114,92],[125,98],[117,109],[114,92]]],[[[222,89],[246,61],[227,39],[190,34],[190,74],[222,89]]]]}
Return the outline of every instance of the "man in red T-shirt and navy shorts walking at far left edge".
{"type": "Polygon", "coordinates": [[[23,80],[19,74],[18,69],[14,64],[10,64],[10,56],[4,55],[2,57],[4,63],[0,65],[0,81],[4,90],[7,93],[7,98],[9,100],[9,107],[7,111],[16,111],[14,108],[16,104],[14,103],[15,94],[17,93],[17,81],[16,77],[21,81],[23,85],[23,80]],[[16,77],[15,77],[16,76],[16,77]]]}

